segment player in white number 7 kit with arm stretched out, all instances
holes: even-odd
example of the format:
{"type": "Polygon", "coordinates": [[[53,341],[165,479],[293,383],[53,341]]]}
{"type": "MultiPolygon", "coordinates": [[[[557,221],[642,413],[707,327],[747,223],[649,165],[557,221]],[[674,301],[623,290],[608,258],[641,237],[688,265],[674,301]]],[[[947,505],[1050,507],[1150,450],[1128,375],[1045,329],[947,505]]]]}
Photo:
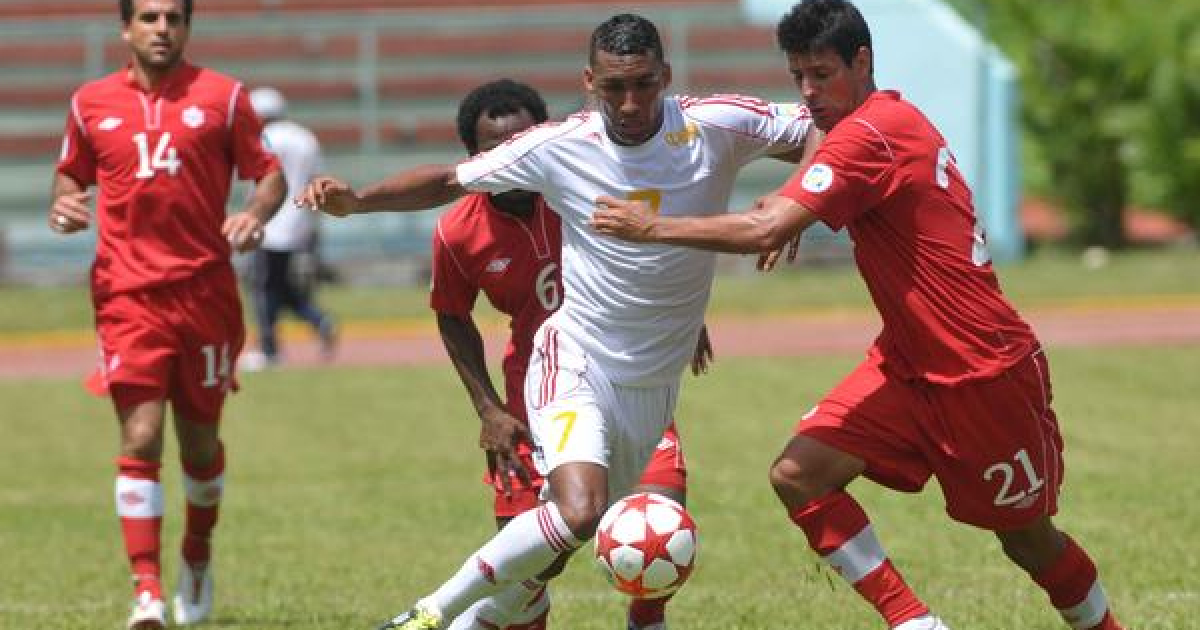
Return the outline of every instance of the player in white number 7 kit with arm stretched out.
{"type": "Polygon", "coordinates": [[[641,199],[667,216],[722,209],[742,166],[760,156],[800,161],[816,148],[818,132],[802,107],[740,96],[666,97],[670,82],[654,24],[614,16],[592,34],[583,70],[594,110],[534,127],[458,164],[413,168],[361,193],[316,178],[298,199],[346,216],[433,208],[468,191],[527,190],[541,193],[563,223],[564,302],[536,334],[526,380],[547,500],[510,521],[449,581],[383,628],[481,628],[458,617],[512,584],[548,578],[637,482],[671,421],[715,257],[600,236],[588,227],[596,198],[641,199]]]}

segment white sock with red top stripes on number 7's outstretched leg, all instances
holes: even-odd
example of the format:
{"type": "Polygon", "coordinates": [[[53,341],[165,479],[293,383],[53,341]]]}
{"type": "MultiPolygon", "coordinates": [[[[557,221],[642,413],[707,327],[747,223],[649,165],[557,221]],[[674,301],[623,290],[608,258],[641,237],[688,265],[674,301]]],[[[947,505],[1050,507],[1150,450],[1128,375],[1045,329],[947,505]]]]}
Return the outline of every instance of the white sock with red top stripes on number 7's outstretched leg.
{"type": "Polygon", "coordinates": [[[422,601],[433,605],[443,619],[455,619],[475,601],[538,576],[580,545],[558,506],[546,503],[509,521],[422,601]]]}

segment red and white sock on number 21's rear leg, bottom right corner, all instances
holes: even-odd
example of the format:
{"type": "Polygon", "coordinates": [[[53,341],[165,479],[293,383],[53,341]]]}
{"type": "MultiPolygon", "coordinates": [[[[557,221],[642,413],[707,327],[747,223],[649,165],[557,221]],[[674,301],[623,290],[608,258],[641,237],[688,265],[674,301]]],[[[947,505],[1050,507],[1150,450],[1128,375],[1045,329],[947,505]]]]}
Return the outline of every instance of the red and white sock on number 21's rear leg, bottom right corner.
{"type": "Polygon", "coordinates": [[[1067,540],[1062,554],[1033,576],[1063,620],[1076,630],[1122,630],[1109,611],[1109,600],[1100,586],[1096,564],[1087,552],[1063,534],[1067,540]]]}

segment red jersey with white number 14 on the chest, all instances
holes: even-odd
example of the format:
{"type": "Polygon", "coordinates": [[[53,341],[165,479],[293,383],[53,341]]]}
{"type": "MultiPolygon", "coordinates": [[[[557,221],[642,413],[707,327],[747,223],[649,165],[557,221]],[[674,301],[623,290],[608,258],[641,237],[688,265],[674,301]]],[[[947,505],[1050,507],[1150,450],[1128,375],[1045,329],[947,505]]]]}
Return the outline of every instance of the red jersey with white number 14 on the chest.
{"type": "Polygon", "coordinates": [[[71,97],[58,170],[100,188],[96,296],[167,284],[228,265],[221,235],[233,169],[278,168],[240,83],[180,64],[155,91],[126,67],[71,97]]]}

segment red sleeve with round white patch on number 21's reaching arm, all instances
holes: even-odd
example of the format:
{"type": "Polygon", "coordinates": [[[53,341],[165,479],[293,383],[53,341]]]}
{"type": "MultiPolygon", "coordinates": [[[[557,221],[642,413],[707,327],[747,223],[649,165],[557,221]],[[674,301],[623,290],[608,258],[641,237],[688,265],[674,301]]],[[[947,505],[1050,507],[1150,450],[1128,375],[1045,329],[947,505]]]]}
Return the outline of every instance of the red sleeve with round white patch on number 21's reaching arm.
{"type": "Polygon", "coordinates": [[[841,229],[890,194],[895,156],[887,139],[864,120],[835,127],[779,194],[803,204],[830,229],[841,229]]]}

